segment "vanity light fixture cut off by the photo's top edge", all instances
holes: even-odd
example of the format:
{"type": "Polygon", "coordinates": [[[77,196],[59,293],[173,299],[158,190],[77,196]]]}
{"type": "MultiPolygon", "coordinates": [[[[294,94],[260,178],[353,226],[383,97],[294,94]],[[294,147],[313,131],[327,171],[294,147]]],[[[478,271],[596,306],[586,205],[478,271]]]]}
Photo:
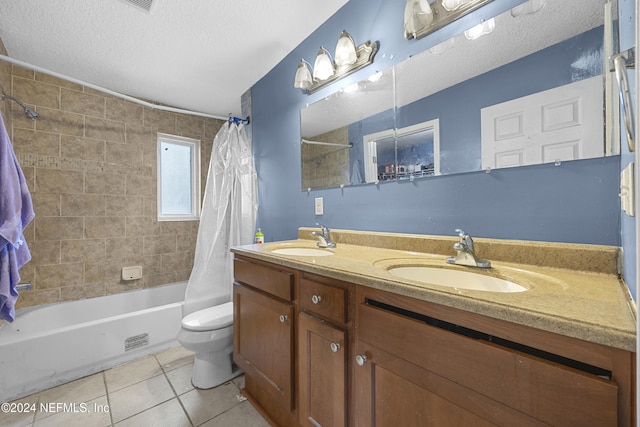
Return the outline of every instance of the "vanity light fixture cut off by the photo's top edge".
{"type": "Polygon", "coordinates": [[[404,37],[421,39],[493,0],[407,0],[404,37]]]}

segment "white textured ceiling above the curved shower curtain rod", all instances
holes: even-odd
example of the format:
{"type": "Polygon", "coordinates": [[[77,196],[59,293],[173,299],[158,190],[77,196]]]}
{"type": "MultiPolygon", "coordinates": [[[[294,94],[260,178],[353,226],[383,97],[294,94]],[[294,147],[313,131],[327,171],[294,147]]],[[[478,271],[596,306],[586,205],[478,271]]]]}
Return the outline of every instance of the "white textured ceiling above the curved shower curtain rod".
{"type": "Polygon", "coordinates": [[[2,0],[0,38],[11,58],[87,83],[240,115],[241,95],[346,2],[2,0]]]}

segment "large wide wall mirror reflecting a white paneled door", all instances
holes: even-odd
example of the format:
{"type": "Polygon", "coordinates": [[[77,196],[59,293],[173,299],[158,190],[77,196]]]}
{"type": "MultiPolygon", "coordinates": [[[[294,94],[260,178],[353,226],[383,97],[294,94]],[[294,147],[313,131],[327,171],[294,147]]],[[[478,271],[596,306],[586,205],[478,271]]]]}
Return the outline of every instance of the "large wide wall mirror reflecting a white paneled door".
{"type": "Polygon", "coordinates": [[[507,11],[491,34],[460,34],[301,109],[302,189],[617,154],[603,134],[615,128],[603,122],[606,3],[507,11]]]}

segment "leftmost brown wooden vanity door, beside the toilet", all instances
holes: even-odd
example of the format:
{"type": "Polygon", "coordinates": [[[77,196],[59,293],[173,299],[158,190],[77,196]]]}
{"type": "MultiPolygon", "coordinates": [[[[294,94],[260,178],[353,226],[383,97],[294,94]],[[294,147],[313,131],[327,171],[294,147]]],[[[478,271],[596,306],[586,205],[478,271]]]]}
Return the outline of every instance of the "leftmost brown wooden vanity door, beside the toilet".
{"type": "Polygon", "coordinates": [[[234,287],[234,360],[293,409],[293,306],[246,286],[234,287]]]}

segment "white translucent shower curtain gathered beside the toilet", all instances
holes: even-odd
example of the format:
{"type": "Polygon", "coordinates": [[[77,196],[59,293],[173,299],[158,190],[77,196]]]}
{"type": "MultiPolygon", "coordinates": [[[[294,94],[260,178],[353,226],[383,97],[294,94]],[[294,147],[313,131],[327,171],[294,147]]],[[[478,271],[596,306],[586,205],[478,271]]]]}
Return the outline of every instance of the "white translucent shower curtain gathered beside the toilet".
{"type": "Polygon", "coordinates": [[[193,270],[183,314],[231,301],[232,246],[253,243],[257,175],[241,123],[225,123],[213,140],[193,270]]]}

